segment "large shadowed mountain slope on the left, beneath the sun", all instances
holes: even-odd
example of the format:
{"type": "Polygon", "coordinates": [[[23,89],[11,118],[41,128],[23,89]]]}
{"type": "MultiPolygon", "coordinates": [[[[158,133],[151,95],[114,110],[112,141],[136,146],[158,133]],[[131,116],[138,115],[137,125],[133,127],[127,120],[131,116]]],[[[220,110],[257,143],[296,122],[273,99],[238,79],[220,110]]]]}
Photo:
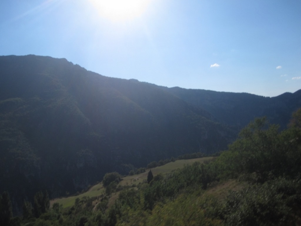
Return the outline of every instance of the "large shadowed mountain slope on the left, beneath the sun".
{"type": "Polygon", "coordinates": [[[161,88],[66,59],[2,56],[0,71],[0,192],[15,207],[39,190],[74,193],[122,164],[213,153],[235,138],[161,88]]]}

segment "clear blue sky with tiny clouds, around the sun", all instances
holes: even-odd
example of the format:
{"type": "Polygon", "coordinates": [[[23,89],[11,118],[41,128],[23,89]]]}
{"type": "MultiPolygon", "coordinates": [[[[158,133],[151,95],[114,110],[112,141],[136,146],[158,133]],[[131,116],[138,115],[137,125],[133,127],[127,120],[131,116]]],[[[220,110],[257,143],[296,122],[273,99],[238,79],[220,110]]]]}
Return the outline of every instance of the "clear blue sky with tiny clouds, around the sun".
{"type": "Polygon", "coordinates": [[[139,15],[118,20],[96,1],[2,0],[0,55],[66,58],[168,87],[261,96],[301,89],[300,0],[147,0],[139,15]]]}

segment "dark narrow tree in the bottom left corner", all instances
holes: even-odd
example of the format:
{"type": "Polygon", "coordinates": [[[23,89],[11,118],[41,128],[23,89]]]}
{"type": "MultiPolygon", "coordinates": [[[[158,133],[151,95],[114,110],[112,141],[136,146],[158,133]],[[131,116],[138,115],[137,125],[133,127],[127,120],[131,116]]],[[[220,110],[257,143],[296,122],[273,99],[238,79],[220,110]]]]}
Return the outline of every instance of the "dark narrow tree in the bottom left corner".
{"type": "Polygon", "coordinates": [[[13,217],[11,199],[7,191],[0,196],[0,225],[9,225],[13,217]]]}

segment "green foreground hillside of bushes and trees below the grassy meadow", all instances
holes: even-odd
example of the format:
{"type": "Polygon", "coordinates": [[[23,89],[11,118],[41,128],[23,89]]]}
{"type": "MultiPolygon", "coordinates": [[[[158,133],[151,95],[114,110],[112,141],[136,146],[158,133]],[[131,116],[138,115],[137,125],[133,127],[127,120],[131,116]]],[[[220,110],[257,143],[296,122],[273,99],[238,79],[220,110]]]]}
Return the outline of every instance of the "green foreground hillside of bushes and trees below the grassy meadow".
{"type": "Polygon", "coordinates": [[[134,186],[111,181],[106,187],[112,186],[113,193],[106,191],[97,202],[83,197],[70,209],[54,203],[22,224],[300,225],[300,138],[301,109],[283,131],[258,118],[212,161],[157,174],[134,186]]]}

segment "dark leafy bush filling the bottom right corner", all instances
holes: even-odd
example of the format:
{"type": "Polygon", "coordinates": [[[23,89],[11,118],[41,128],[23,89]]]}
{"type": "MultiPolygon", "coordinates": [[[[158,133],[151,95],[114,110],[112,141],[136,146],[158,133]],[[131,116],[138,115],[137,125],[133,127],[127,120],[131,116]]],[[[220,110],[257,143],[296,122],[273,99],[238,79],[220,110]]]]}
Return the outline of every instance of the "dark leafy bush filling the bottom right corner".
{"type": "Polygon", "coordinates": [[[293,225],[299,209],[300,180],[277,178],[231,192],[222,210],[228,225],[293,225]],[[293,205],[292,205],[293,204],[293,205]]]}

